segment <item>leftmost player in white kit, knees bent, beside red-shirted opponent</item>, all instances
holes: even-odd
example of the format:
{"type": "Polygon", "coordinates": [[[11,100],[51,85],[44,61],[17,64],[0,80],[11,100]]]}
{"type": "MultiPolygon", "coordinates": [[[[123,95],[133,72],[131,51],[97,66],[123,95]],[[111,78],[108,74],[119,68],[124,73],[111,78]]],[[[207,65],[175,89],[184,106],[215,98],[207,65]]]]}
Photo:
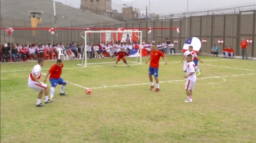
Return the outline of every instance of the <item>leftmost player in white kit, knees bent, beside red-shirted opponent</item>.
{"type": "Polygon", "coordinates": [[[43,104],[41,104],[41,98],[43,96],[44,92],[44,103],[50,103],[48,99],[48,94],[49,94],[49,87],[45,83],[41,83],[39,79],[41,78],[41,67],[43,67],[43,59],[39,58],[37,60],[38,64],[34,66],[32,71],[29,74],[29,79],[28,79],[28,86],[29,88],[32,88],[32,90],[35,90],[37,93],[39,93],[36,101],[36,107],[43,107],[43,104]]]}

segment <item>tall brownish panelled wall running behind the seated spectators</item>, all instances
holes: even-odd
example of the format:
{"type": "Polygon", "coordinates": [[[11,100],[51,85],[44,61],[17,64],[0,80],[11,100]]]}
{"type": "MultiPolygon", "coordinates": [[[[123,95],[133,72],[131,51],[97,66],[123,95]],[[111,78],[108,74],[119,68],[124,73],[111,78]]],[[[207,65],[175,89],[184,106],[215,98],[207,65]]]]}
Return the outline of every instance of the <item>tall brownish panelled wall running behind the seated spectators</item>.
{"type": "MultiPolygon", "coordinates": [[[[248,46],[248,55],[250,57],[256,57],[256,11],[250,13],[241,12],[237,15],[205,15],[195,16],[188,19],[170,19],[170,20],[142,20],[140,22],[120,23],[120,24],[108,24],[103,22],[102,27],[180,27],[180,34],[173,29],[171,30],[152,30],[151,34],[147,34],[147,30],[142,30],[142,40],[149,41],[154,39],[156,42],[162,42],[166,36],[170,36],[170,39],[174,41],[177,39],[179,42],[175,45],[175,48],[182,50],[183,43],[186,40],[186,25],[187,25],[187,38],[191,36],[198,37],[199,39],[206,38],[206,44],[202,44],[201,53],[210,53],[210,49],[213,44],[216,44],[220,50],[224,46],[233,46],[236,55],[241,55],[241,49],[239,43],[244,37],[245,39],[251,38],[253,43],[248,46]],[[150,24],[150,25],[149,25],[150,24]],[[254,32],[253,32],[254,29],[254,32]],[[224,44],[219,45],[218,40],[222,39],[224,44]]],[[[82,25],[82,24],[81,24],[82,25]]],[[[40,25],[39,27],[50,27],[49,24],[40,25]]],[[[30,22],[22,20],[1,19],[1,27],[31,27],[30,22]]],[[[82,27],[82,26],[81,26],[82,27]]],[[[94,27],[100,27],[95,25],[94,27]]],[[[37,39],[32,36],[31,30],[15,30],[12,36],[12,43],[51,43],[52,38],[55,42],[69,43],[71,41],[79,41],[84,43],[84,39],[81,38],[81,30],[58,30],[52,36],[47,30],[38,30],[37,39]]],[[[100,34],[91,34],[88,37],[90,43],[93,41],[100,41],[100,34]]],[[[1,30],[1,43],[9,42],[9,36],[5,30],[1,30]]]]}

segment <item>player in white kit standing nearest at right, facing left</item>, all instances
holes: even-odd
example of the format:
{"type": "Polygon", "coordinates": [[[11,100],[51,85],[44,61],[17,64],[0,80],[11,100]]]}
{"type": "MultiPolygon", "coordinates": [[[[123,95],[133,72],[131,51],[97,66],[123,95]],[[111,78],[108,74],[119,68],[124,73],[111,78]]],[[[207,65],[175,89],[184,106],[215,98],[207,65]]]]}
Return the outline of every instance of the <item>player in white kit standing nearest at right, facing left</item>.
{"type": "Polygon", "coordinates": [[[187,79],[185,90],[187,93],[187,100],[184,102],[192,102],[192,90],[194,90],[195,84],[196,84],[196,66],[195,63],[192,60],[192,55],[186,56],[187,61],[187,67],[186,72],[187,74],[184,76],[185,79],[187,79]]]}

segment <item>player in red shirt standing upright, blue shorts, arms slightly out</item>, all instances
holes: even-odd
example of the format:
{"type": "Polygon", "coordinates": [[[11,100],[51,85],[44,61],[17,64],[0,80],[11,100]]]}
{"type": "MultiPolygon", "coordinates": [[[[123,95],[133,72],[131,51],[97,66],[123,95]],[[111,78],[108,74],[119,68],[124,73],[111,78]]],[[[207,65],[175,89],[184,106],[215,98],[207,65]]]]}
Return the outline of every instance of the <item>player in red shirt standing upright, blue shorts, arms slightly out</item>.
{"type": "MultiPolygon", "coordinates": [[[[152,46],[152,50],[150,51],[150,64],[149,64],[149,81],[151,83],[151,87],[149,90],[152,90],[154,88],[154,83],[153,83],[153,75],[156,80],[156,90],[154,92],[159,92],[160,86],[159,86],[159,60],[160,57],[163,57],[164,62],[166,62],[166,57],[163,55],[163,53],[160,50],[157,50],[156,45],[152,46]]],[[[149,62],[147,60],[147,62],[149,62]]],[[[146,62],[146,64],[147,64],[146,62]]],[[[167,64],[167,62],[166,62],[167,64]]]]}

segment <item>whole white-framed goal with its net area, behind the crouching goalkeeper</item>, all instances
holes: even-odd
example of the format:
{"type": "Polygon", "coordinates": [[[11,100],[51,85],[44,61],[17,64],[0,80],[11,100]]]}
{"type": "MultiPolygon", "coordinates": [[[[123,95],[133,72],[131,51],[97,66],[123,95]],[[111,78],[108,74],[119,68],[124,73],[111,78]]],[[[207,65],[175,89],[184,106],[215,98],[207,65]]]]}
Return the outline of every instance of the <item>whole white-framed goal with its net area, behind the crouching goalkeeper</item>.
{"type": "MultiPolygon", "coordinates": [[[[116,61],[116,53],[121,48],[126,50],[128,64],[142,64],[142,31],[138,29],[119,29],[119,30],[101,30],[81,32],[84,39],[85,47],[81,67],[94,66],[112,66],[116,61]],[[89,36],[100,37],[99,41],[90,41],[89,36]],[[127,38],[129,37],[129,38],[127,38]],[[99,53],[94,51],[93,45],[100,45],[102,49],[99,53]],[[115,60],[114,60],[115,59],[115,60]]],[[[122,60],[120,62],[123,62],[122,60]]]]}

